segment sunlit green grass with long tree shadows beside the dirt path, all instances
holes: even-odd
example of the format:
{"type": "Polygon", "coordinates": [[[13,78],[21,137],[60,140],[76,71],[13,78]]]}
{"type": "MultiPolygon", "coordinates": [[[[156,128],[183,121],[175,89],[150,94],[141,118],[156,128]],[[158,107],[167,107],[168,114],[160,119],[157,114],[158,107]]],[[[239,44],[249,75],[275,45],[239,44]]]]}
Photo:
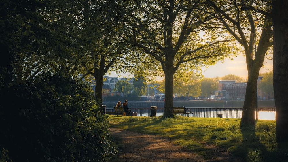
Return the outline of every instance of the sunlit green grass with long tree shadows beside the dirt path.
{"type": "Polygon", "coordinates": [[[287,161],[288,145],[277,144],[276,121],[258,120],[240,129],[240,119],[175,118],[106,115],[110,127],[159,135],[204,155],[201,142],[226,148],[245,161],[287,161]]]}

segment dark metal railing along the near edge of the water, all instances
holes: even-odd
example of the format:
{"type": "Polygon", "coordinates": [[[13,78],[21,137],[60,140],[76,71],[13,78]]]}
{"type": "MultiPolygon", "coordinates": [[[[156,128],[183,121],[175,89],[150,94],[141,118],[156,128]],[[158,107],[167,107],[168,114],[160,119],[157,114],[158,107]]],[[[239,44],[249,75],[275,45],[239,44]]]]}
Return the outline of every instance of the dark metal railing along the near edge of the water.
{"type": "MultiPolygon", "coordinates": [[[[186,108],[186,107],[185,107],[186,108]]],[[[223,118],[241,118],[243,108],[186,108],[190,109],[193,114],[189,117],[201,117],[201,118],[216,118],[219,114],[223,118]]],[[[150,116],[150,108],[129,108],[132,112],[137,112],[138,116],[150,116]]],[[[107,108],[106,112],[115,112],[114,108],[107,108]]],[[[164,108],[156,109],[156,116],[161,116],[164,113],[164,108]]],[[[176,114],[180,116],[187,116],[187,114],[176,114]]],[[[276,111],[275,108],[258,108],[258,119],[263,120],[275,120],[276,111]]]]}

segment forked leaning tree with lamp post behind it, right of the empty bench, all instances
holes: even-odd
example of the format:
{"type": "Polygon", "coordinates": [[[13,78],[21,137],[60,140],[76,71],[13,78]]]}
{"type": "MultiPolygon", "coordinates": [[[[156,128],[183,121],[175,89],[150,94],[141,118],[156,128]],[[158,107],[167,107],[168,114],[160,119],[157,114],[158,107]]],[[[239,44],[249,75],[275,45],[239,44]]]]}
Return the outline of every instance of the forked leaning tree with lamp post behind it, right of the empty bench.
{"type": "MultiPolygon", "coordinates": [[[[235,37],[244,48],[248,70],[247,88],[241,125],[255,125],[255,109],[257,99],[257,80],[260,68],[263,65],[265,54],[272,45],[272,19],[269,16],[258,14],[250,10],[271,12],[271,2],[268,1],[221,1],[225,5],[217,5],[215,1],[207,0],[217,12],[215,16],[223,27],[235,37]],[[257,21],[256,21],[257,20],[257,21]],[[259,22],[259,24],[257,24],[259,22]],[[257,27],[261,27],[258,29],[257,27]],[[261,31],[260,37],[256,37],[261,31]],[[259,39],[257,39],[259,38],[259,39]],[[257,48],[256,48],[257,45],[257,48]]],[[[215,22],[218,23],[218,22],[215,22]]]]}

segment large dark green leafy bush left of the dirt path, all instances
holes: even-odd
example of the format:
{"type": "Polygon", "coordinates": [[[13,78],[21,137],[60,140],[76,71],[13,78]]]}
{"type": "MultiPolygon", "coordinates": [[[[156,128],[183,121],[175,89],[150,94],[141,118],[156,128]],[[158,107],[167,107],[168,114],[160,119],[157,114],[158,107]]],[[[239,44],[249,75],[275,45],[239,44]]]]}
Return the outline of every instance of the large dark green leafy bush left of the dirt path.
{"type": "Polygon", "coordinates": [[[115,154],[107,119],[82,81],[47,74],[0,90],[2,161],[108,161],[115,154]]]}

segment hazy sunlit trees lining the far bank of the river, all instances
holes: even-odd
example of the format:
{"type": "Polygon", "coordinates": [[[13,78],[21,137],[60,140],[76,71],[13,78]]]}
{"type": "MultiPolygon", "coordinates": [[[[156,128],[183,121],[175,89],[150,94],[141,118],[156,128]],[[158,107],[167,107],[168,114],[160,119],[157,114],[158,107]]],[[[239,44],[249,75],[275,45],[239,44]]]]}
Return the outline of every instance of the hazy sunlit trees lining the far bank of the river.
{"type": "MultiPolygon", "coordinates": [[[[267,72],[267,73],[260,73],[259,76],[262,76],[262,80],[260,84],[258,85],[258,88],[261,89],[263,92],[269,92],[272,93],[271,96],[274,96],[273,94],[273,72],[267,72]]],[[[177,94],[178,97],[183,96],[183,98],[188,99],[189,97],[204,97],[209,98],[211,95],[214,95],[214,91],[218,90],[218,81],[217,80],[236,80],[236,83],[242,83],[247,82],[246,79],[236,76],[234,74],[228,74],[223,77],[215,77],[215,78],[200,78],[199,76],[196,76],[192,72],[187,72],[185,76],[179,79],[175,79],[174,87],[173,87],[173,93],[177,94]]],[[[129,99],[131,100],[140,100],[142,95],[155,95],[154,94],[154,88],[157,89],[157,91],[161,94],[165,93],[165,82],[163,80],[161,81],[154,81],[150,83],[146,83],[145,81],[140,81],[140,79],[137,79],[137,81],[133,81],[133,84],[130,84],[126,80],[120,80],[117,81],[115,84],[115,88],[113,89],[113,92],[120,92],[124,94],[124,98],[129,96],[129,99]],[[138,83],[137,83],[138,82],[138,83]],[[147,87],[147,85],[156,85],[147,87]],[[148,89],[150,88],[150,93],[148,94],[148,89]],[[139,91],[140,90],[140,91],[139,91]]],[[[119,96],[118,96],[119,98],[119,96]]]]}

